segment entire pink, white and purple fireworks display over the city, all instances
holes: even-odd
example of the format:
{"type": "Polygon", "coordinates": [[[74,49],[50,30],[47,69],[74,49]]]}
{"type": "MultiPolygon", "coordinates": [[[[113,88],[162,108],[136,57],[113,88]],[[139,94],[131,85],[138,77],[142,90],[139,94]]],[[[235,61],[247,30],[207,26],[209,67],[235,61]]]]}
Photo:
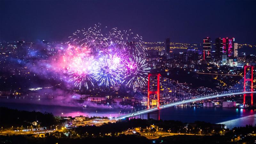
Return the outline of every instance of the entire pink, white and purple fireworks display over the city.
{"type": "Polygon", "coordinates": [[[77,30],[70,36],[61,66],[66,68],[69,81],[79,89],[84,85],[103,86],[125,84],[142,87],[147,82],[149,67],[142,37],[131,30],[117,28],[101,30],[95,25],[88,30],[77,30]]]}

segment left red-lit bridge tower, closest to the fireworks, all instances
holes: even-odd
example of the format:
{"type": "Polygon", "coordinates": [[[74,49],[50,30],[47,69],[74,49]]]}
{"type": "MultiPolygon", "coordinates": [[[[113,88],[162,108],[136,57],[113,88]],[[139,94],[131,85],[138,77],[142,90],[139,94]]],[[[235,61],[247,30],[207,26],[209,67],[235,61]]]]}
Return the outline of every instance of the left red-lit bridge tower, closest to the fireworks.
{"type": "Polygon", "coordinates": [[[148,73],[148,109],[150,108],[150,94],[157,94],[157,108],[159,109],[159,100],[160,100],[160,78],[161,74],[151,74],[148,73]],[[150,76],[157,76],[157,91],[150,91],[150,76]]]}

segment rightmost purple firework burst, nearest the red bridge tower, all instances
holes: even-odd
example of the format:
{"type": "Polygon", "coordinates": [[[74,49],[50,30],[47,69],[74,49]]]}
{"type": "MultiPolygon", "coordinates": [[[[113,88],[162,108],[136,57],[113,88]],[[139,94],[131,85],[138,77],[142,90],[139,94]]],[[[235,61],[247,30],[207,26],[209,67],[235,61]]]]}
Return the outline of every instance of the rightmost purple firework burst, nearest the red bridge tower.
{"type": "Polygon", "coordinates": [[[142,87],[147,82],[147,75],[149,73],[149,67],[146,60],[141,57],[133,56],[124,61],[123,65],[126,69],[126,75],[124,81],[126,86],[142,87]]]}

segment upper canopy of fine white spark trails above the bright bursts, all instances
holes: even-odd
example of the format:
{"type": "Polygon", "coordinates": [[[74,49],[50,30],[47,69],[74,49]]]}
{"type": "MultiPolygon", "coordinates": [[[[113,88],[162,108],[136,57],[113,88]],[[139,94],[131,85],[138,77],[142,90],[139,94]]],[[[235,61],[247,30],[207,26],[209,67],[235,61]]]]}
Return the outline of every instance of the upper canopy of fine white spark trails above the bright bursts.
{"type": "Polygon", "coordinates": [[[70,41],[67,44],[76,45],[82,50],[90,50],[92,54],[97,55],[99,52],[123,51],[132,55],[146,56],[146,47],[142,37],[133,34],[132,30],[123,32],[117,28],[103,33],[101,25],[98,24],[88,30],[77,30],[73,36],[69,36],[70,41]]]}

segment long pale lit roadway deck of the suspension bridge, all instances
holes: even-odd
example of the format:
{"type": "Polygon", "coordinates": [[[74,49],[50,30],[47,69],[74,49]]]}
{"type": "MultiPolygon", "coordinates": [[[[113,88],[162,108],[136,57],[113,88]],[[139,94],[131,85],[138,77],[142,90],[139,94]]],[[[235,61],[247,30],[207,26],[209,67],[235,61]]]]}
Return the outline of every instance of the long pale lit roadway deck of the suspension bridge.
{"type": "MultiPolygon", "coordinates": [[[[159,109],[169,108],[169,107],[173,107],[173,106],[177,106],[177,105],[181,105],[181,104],[185,104],[185,103],[189,103],[189,102],[193,102],[193,101],[197,101],[197,100],[206,100],[206,99],[212,99],[212,98],[217,98],[217,97],[225,97],[225,96],[230,96],[230,95],[239,95],[239,94],[248,94],[248,93],[256,93],[256,92],[236,92],[236,93],[227,93],[227,94],[219,94],[219,93],[216,92],[216,93],[212,93],[210,95],[197,97],[195,99],[182,100],[182,101],[179,101],[179,102],[173,102],[173,103],[169,103],[169,104],[165,104],[165,105],[160,105],[159,109]]],[[[125,117],[140,116],[140,115],[147,114],[147,113],[150,113],[150,112],[153,112],[153,111],[156,111],[156,110],[158,110],[157,107],[144,109],[144,110],[129,113],[129,114],[126,114],[126,115],[118,116],[118,117],[116,117],[116,119],[123,119],[125,117]]]]}

